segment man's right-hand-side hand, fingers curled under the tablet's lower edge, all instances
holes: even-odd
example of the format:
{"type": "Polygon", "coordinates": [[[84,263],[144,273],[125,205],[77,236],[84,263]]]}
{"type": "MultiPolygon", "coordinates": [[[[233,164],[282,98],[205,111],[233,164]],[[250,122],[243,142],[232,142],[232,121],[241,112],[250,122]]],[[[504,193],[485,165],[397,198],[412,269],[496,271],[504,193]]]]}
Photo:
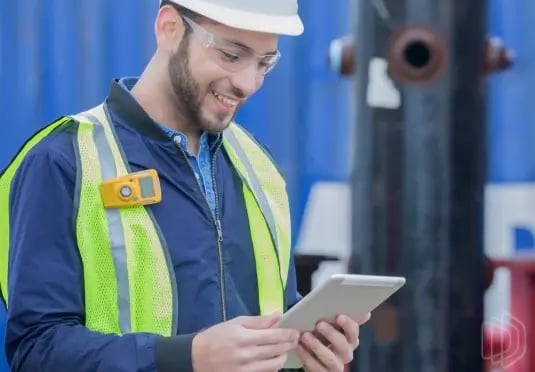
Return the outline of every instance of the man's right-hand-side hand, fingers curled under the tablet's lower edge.
{"type": "Polygon", "coordinates": [[[302,335],[297,353],[307,372],[342,372],[344,366],[353,360],[353,352],[359,345],[359,327],[371,317],[368,313],[359,322],[345,315],[336,317],[339,329],[327,322],[316,325],[315,336],[307,332],[302,335]],[[320,341],[324,339],[324,343],[320,341]]]}

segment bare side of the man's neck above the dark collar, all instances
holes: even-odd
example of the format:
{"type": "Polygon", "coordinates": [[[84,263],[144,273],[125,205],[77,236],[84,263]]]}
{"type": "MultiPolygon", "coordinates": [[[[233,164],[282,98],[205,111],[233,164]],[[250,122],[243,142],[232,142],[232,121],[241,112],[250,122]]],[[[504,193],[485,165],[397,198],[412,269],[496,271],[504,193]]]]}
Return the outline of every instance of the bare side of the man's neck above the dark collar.
{"type": "Polygon", "coordinates": [[[176,102],[173,101],[169,82],[158,72],[164,70],[165,67],[158,66],[157,60],[153,58],[131,93],[152,120],[184,133],[188,138],[188,151],[197,153],[201,133],[187,123],[176,102]]]}

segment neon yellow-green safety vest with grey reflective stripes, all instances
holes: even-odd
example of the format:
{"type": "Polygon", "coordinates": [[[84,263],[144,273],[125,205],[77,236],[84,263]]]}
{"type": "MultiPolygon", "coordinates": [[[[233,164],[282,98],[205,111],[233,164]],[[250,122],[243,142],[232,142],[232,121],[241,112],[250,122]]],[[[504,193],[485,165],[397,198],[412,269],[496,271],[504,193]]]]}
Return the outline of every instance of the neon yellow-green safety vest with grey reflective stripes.
{"type": "MultiPolygon", "coordinates": [[[[0,176],[0,287],[9,308],[9,194],[26,154],[57,127],[77,122],[74,226],[83,264],[86,326],[115,334],[177,330],[178,299],[165,239],[145,206],[105,208],[100,185],[129,174],[127,159],[101,104],[36,133],[0,176]]],[[[263,148],[240,126],[223,132],[223,148],[243,181],[261,314],[282,312],[290,262],[286,185],[263,148]]]]}

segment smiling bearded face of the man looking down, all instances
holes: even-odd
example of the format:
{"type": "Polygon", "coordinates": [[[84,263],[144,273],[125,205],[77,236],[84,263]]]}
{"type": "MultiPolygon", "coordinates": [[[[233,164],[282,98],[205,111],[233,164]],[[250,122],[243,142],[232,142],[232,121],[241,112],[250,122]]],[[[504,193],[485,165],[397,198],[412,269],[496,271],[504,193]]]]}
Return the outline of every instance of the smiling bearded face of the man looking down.
{"type": "Polygon", "coordinates": [[[201,27],[216,36],[217,44],[205,46],[205,35],[190,31],[171,54],[168,74],[184,119],[189,125],[214,133],[227,128],[239,107],[261,87],[262,62],[259,66],[251,53],[276,51],[277,36],[210,22],[202,22],[201,27]],[[248,58],[250,63],[234,71],[235,56],[248,58]]]}

